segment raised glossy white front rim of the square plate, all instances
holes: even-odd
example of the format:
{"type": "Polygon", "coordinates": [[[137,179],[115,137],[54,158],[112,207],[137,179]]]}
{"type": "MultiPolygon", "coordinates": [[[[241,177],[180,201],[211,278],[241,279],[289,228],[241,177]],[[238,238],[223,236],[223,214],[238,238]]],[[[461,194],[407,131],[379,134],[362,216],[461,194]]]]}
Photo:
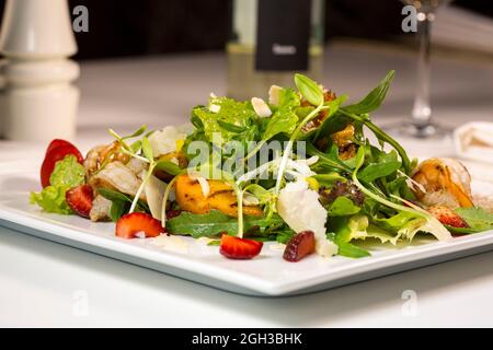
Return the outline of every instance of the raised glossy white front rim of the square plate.
{"type": "Polygon", "coordinates": [[[240,271],[228,270],[220,266],[190,259],[186,255],[173,254],[167,250],[151,250],[142,246],[125,243],[125,241],[118,242],[117,240],[110,240],[96,234],[84,234],[88,230],[82,228],[76,230],[73,229],[73,225],[49,218],[39,217],[32,212],[4,206],[3,203],[0,203],[0,225],[76,248],[102,254],[111,258],[117,258],[130,264],[136,262],[130,261],[128,257],[133,257],[138,260],[146,260],[151,264],[160,265],[161,267],[164,267],[164,269],[157,269],[138,262],[136,265],[152,268],[161,272],[179,278],[185,278],[195,282],[203,283],[197,281],[196,278],[186,278],[167,270],[171,268],[174,270],[184,271],[188,275],[202,276],[214,281],[222,282],[227,285],[225,288],[220,288],[214,283],[203,283],[214,288],[226,289],[228,291],[249,295],[265,296],[285,296],[306,293],[305,291],[309,292],[312,290],[331,289],[369,279],[365,278],[367,275],[376,273],[376,276],[370,278],[383,277],[398,271],[404,271],[412,268],[428,266],[435,262],[442,262],[445,260],[472,255],[478,253],[478,249],[481,249],[482,252],[493,249],[493,230],[491,230],[455,237],[452,241],[432,242],[420,246],[414,246],[410,249],[400,249],[398,254],[393,255],[362,258],[356,260],[356,262],[353,262],[351,266],[331,267],[330,273],[328,272],[312,276],[307,279],[296,279],[283,282],[267,281],[263,278],[241,273],[240,271]],[[12,228],[9,223],[14,224],[15,228],[12,228]],[[33,230],[43,233],[43,235],[32,232],[33,230]],[[50,240],[47,236],[53,236],[54,240],[50,240]],[[60,240],[66,242],[62,243],[60,240]],[[84,245],[84,247],[81,247],[81,244],[84,245]],[[104,252],[100,253],[99,250],[101,249],[122,255],[122,258],[115,257],[114,254],[110,255],[104,252]],[[145,254],[142,255],[142,253],[145,254]],[[389,271],[386,272],[385,269],[389,269],[389,271]],[[344,282],[344,280],[349,281],[344,282]],[[328,287],[324,288],[323,285],[328,287]],[[238,287],[240,290],[234,290],[232,287],[238,287]]]}

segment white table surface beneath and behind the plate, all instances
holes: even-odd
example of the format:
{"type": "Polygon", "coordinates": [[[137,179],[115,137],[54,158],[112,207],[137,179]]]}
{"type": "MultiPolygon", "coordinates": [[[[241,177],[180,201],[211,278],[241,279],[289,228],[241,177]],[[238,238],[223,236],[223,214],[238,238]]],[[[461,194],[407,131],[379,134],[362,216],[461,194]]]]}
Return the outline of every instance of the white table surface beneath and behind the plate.
{"type": "MultiPolygon", "coordinates": [[[[325,60],[323,82],[354,98],[395,69],[376,118],[392,121],[410,110],[412,56],[336,46],[325,60]]],[[[78,143],[85,151],[104,141],[110,126],[124,132],[142,122],[186,121],[211,90],[225,91],[225,67],[219,54],[83,63],[78,143]]],[[[434,79],[434,112],[444,124],[493,121],[493,66],[437,59],[434,79]]],[[[454,154],[449,140],[404,144],[417,156],[454,154]]],[[[0,141],[0,162],[39,162],[45,147],[0,141]]],[[[0,326],[493,326],[492,295],[493,253],[316,294],[262,299],[0,228],[0,326]],[[403,292],[410,290],[416,299],[406,303],[403,292]]]]}

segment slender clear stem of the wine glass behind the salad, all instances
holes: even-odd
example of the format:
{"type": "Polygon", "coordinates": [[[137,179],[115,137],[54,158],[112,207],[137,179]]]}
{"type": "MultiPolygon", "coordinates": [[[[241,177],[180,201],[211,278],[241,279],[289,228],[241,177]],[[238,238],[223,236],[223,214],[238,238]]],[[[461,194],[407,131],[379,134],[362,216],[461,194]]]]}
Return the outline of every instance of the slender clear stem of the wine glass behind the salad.
{"type": "Polygon", "coordinates": [[[429,54],[431,54],[431,18],[433,13],[420,13],[419,21],[420,52],[417,57],[417,84],[412,113],[412,122],[415,127],[424,128],[431,124],[432,106],[429,104],[429,54]],[[421,20],[421,19],[420,19],[421,20]]]}

